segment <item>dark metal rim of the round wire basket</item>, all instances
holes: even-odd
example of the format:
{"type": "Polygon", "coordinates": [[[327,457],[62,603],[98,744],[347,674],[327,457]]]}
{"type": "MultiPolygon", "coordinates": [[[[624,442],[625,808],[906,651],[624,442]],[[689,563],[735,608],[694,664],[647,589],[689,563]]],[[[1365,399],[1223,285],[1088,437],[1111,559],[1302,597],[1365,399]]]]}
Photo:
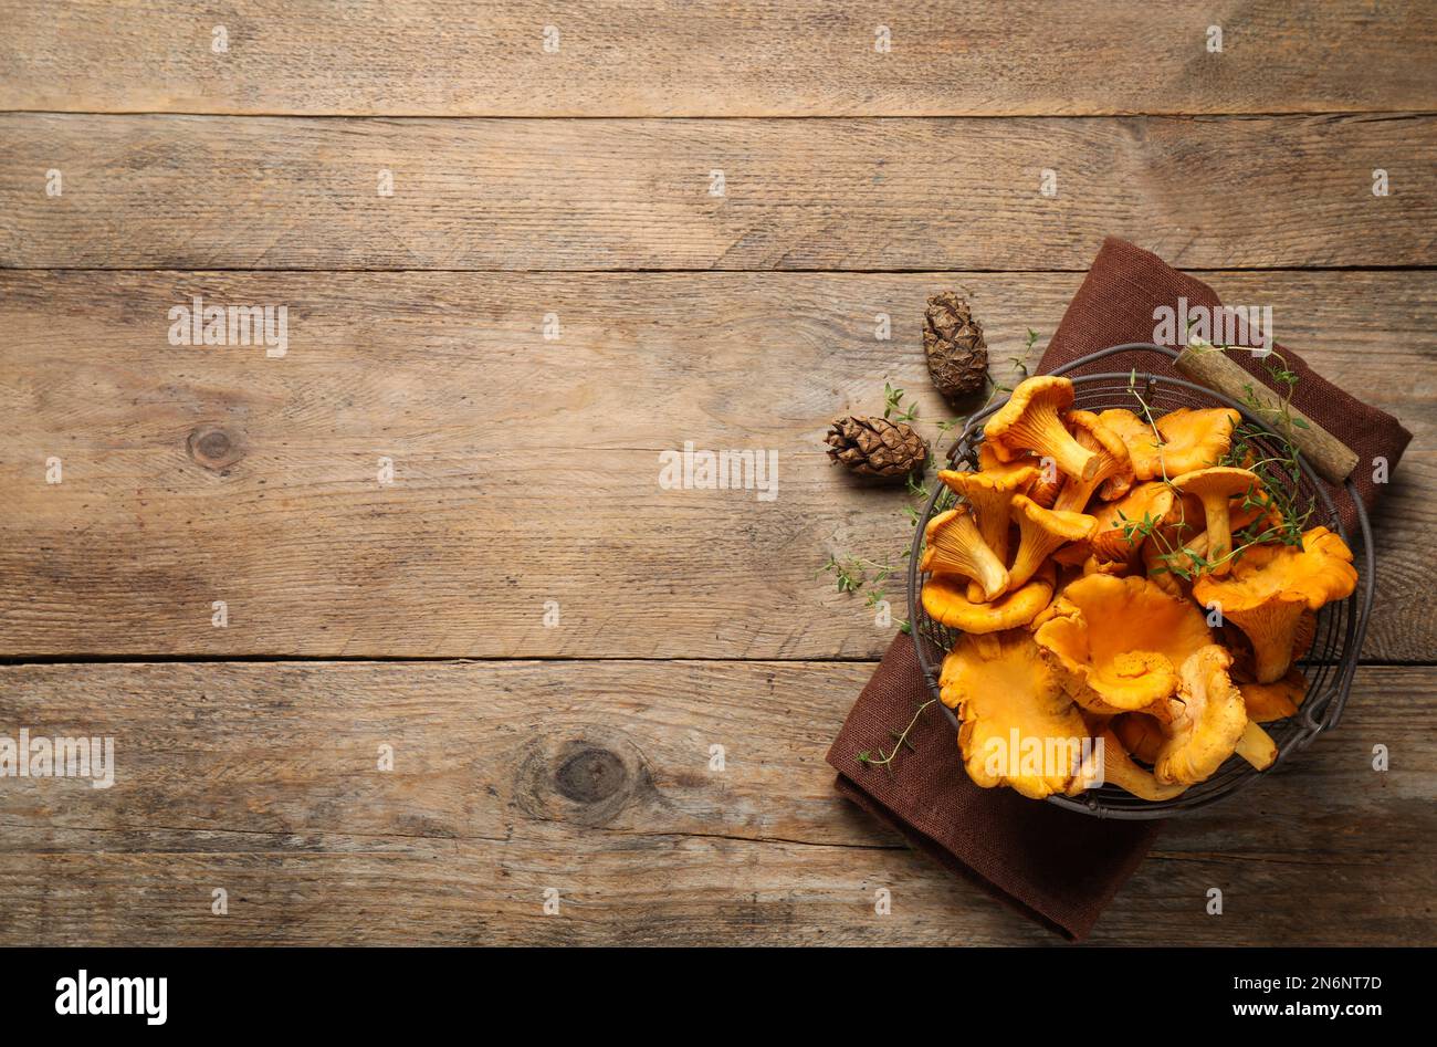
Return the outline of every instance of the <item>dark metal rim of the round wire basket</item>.
{"type": "MultiPolygon", "coordinates": [[[[1061,367],[1053,368],[1052,371],[1048,371],[1048,374],[1063,375],[1076,368],[1086,367],[1088,364],[1095,364],[1101,360],[1106,360],[1108,357],[1122,352],[1155,352],[1158,355],[1167,357],[1168,360],[1177,360],[1180,355],[1177,349],[1171,349],[1165,345],[1157,345],[1154,342],[1125,342],[1121,345],[1109,345],[1105,349],[1098,349],[1096,352],[1089,352],[1088,355],[1078,357],[1076,360],[1069,361],[1068,364],[1063,364],[1061,367]]],[[[1178,385],[1191,390],[1194,393],[1200,393],[1206,397],[1211,397],[1213,400],[1221,404],[1226,404],[1227,407],[1237,410],[1246,421],[1260,426],[1273,436],[1277,436],[1262,419],[1253,416],[1252,411],[1247,410],[1243,404],[1232,400],[1223,393],[1217,393],[1216,390],[1207,388],[1206,385],[1198,385],[1184,378],[1167,378],[1163,375],[1155,375],[1150,371],[1138,371],[1137,368],[1132,368],[1128,372],[1111,371],[1102,374],[1078,375],[1072,381],[1076,385],[1079,383],[1114,380],[1114,378],[1129,378],[1141,381],[1145,385],[1148,385],[1148,388],[1151,388],[1155,383],[1165,383],[1170,385],[1178,385]]],[[[1007,401],[1009,397],[1004,397],[1003,400],[989,404],[981,411],[971,416],[969,419],[967,426],[964,426],[963,431],[953,442],[953,446],[948,450],[948,459],[953,460],[960,449],[971,446],[973,434],[981,427],[983,421],[992,417],[999,410],[1002,410],[1003,404],[1006,404],[1007,401]]],[[[1336,519],[1338,531],[1342,539],[1351,548],[1352,542],[1348,536],[1346,528],[1342,524],[1342,518],[1336,509],[1336,503],[1328,493],[1326,485],[1321,480],[1321,477],[1316,476],[1316,473],[1313,473],[1312,466],[1308,465],[1306,459],[1300,454],[1300,452],[1296,453],[1296,459],[1298,465],[1303,470],[1303,475],[1311,482],[1313,490],[1316,490],[1322,502],[1325,502],[1329,515],[1336,519]]],[[[1338,722],[1342,719],[1342,710],[1346,706],[1348,693],[1352,689],[1352,677],[1357,673],[1358,657],[1362,650],[1362,643],[1367,637],[1368,616],[1372,608],[1372,595],[1377,588],[1377,558],[1375,558],[1375,551],[1372,548],[1372,529],[1367,516],[1367,509],[1362,505],[1361,496],[1358,495],[1357,485],[1354,485],[1351,479],[1345,482],[1344,489],[1354,505],[1358,531],[1361,532],[1362,536],[1364,570],[1359,572],[1361,584],[1354,590],[1352,595],[1348,597],[1348,600],[1345,601],[1351,605],[1352,613],[1349,614],[1346,621],[1346,637],[1344,643],[1342,659],[1339,662],[1339,672],[1336,673],[1336,677],[1334,679],[1331,686],[1322,695],[1309,696],[1309,699],[1303,702],[1302,708],[1303,728],[1293,738],[1290,738],[1286,745],[1282,746],[1282,749],[1277,752],[1277,758],[1273,762],[1273,765],[1269,767],[1266,771],[1256,771],[1252,767],[1244,765],[1236,777],[1229,775],[1232,781],[1224,784],[1220,790],[1213,791],[1209,795],[1190,800],[1187,803],[1183,803],[1183,795],[1180,795],[1175,797],[1174,800],[1165,800],[1165,801],[1142,801],[1144,803],[1142,807],[1115,808],[1115,807],[1105,807],[1098,800],[1098,797],[1092,795],[1092,792],[1081,794],[1076,798],[1063,795],[1050,795],[1048,797],[1048,803],[1052,803],[1058,807],[1071,811],[1079,811],[1082,814],[1088,814],[1092,817],[1114,818],[1119,821],[1141,821],[1141,820],[1167,818],[1167,817],[1188,814],[1191,811],[1197,811],[1211,804],[1216,804],[1221,800],[1226,800],[1239,790],[1260,779],[1263,775],[1276,769],[1276,767],[1279,767],[1290,752],[1306,749],[1316,739],[1318,735],[1321,735],[1325,731],[1331,731],[1338,725],[1338,722]]],[[[917,627],[920,616],[927,617],[927,613],[923,610],[923,603],[920,600],[921,582],[920,582],[918,561],[923,552],[924,528],[931,519],[934,508],[937,506],[938,499],[943,496],[943,493],[944,488],[940,485],[930,496],[927,506],[924,506],[923,516],[920,516],[918,524],[914,528],[912,548],[908,557],[908,621],[912,623],[911,639],[914,644],[914,651],[918,656],[920,672],[923,673],[928,692],[933,695],[934,699],[940,698],[938,673],[937,667],[931,664],[927,653],[924,651],[923,636],[920,634],[920,630],[917,627]]],[[[957,715],[953,712],[953,709],[950,709],[941,700],[938,702],[938,708],[943,710],[944,716],[950,721],[950,723],[954,728],[957,728],[958,719],[957,715]]],[[[1219,774],[1221,774],[1221,771],[1219,774]]]]}

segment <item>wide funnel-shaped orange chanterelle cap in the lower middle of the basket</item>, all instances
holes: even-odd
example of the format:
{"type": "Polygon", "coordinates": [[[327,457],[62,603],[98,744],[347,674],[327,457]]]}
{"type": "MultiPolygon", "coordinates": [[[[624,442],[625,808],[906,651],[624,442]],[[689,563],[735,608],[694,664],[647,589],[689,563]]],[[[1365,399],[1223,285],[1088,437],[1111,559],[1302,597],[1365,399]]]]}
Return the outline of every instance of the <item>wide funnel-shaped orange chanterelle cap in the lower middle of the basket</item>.
{"type": "Polygon", "coordinates": [[[1036,640],[1066,673],[1079,705],[1114,713],[1171,696],[1177,667],[1213,634],[1191,601],[1147,578],[1089,574],[1042,613],[1036,640]]]}

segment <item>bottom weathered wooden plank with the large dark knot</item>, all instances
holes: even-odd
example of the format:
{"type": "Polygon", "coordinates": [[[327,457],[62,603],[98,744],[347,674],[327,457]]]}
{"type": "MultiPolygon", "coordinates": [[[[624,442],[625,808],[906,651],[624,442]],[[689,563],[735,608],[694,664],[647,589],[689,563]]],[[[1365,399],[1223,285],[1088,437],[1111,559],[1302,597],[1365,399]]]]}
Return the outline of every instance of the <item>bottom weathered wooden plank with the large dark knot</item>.
{"type": "MultiPolygon", "coordinates": [[[[108,790],[6,779],[0,943],[1050,941],[832,792],[871,669],[0,669],[3,732],[112,735],[116,768],[108,790]]],[[[1338,732],[1170,823],[1095,941],[1437,942],[1434,698],[1430,667],[1364,669],[1338,732]]]]}

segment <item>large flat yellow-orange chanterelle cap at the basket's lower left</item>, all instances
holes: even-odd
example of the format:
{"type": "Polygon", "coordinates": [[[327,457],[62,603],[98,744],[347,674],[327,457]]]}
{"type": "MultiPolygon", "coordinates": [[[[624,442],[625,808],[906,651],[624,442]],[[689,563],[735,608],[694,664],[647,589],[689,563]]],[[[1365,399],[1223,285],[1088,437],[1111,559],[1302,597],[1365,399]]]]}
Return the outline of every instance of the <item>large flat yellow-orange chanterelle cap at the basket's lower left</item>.
{"type": "Polygon", "coordinates": [[[1088,728],[1078,708],[1026,630],[986,639],[964,636],[938,679],[944,705],[963,721],[958,752],[969,777],[1032,800],[1081,791],[1088,728]]]}

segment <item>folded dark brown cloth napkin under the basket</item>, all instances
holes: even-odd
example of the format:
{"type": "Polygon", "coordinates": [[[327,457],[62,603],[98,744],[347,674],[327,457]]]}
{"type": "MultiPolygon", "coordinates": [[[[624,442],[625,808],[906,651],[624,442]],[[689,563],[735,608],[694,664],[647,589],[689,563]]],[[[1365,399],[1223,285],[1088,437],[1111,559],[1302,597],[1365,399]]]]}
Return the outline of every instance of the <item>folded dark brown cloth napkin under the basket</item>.
{"type": "MultiPolygon", "coordinates": [[[[1206,283],[1131,243],[1106,240],[1039,370],[1109,345],[1152,341],[1152,309],[1175,308],[1178,296],[1190,306],[1219,305],[1206,283]]],[[[1293,352],[1276,348],[1300,375],[1293,403],[1359,454],[1354,479],[1371,505],[1371,460],[1381,454],[1390,469],[1395,467],[1411,434],[1390,414],[1313,374],[1293,352]]],[[[1244,355],[1233,358],[1247,367],[1244,355]]],[[[1094,370],[1132,367],[1174,374],[1154,354],[1109,357],[1094,370]]],[[[1262,377],[1256,365],[1249,370],[1262,377]]],[[[1085,938],[1142,861],[1163,823],[1105,821],[1026,800],[1012,790],[979,788],[969,781],[953,728],[938,709],[918,719],[908,735],[912,749],[888,769],[858,762],[859,752],[887,751],[890,732],[901,731],[928,698],[911,637],[894,637],[828,752],[828,762],[838,769],[838,791],[1019,912],[1069,939],[1085,938]]]]}

